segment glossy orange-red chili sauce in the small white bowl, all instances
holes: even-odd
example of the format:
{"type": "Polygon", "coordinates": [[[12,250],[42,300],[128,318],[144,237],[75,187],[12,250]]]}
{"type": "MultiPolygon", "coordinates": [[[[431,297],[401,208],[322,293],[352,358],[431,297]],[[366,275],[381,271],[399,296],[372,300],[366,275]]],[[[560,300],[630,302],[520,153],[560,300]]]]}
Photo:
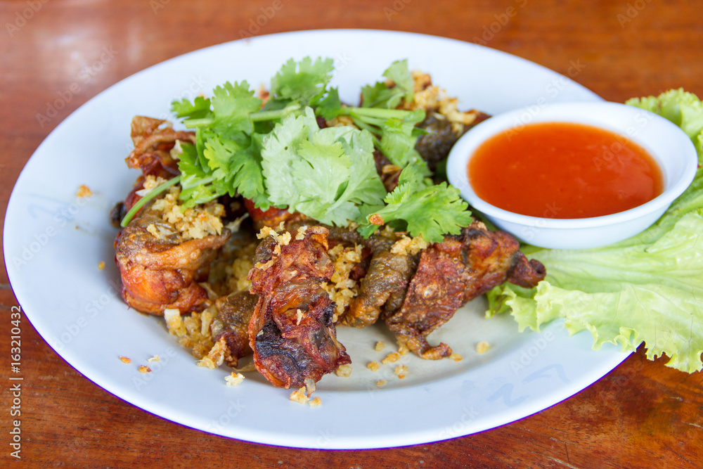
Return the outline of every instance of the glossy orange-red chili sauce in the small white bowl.
{"type": "Polygon", "coordinates": [[[533,217],[600,217],[664,189],[647,150],[612,131],[567,122],[503,131],[477,148],[467,170],[479,198],[533,217]]]}

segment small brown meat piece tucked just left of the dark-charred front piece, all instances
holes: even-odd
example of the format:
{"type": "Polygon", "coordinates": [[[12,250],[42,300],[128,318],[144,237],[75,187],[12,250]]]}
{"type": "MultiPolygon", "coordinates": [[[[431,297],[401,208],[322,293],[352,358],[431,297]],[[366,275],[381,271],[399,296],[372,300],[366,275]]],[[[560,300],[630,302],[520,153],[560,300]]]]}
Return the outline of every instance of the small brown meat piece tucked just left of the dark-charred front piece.
{"type": "Polygon", "coordinates": [[[219,342],[224,362],[233,368],[238,366],[240,358],[252,353],[249,346],[249,321],[257,300],[257,295],[239,292],[215,301],[218,312],[210,325],[212,341],[219,342]]]}

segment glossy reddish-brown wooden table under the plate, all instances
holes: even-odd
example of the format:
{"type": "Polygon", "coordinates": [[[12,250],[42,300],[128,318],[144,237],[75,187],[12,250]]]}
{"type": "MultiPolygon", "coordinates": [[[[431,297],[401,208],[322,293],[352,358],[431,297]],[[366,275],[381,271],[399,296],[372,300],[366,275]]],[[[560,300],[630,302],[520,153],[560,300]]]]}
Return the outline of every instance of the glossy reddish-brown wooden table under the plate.
{"type": "MultiPolygon", "coordinates": [[[[149,65],[243,32],[436,34],[533,60],[610,101],[678,87],[703,96],[700,4],[685,0],[4,0],[0,18],[3,214],[27,159],[79,105],[149,65]],[[55,117],[37,118],[110,50],[119,51],[114,60],[91,69],[55,117]]],[[[0,448],[10,467],[9,331],[20,305],[5,271],[0,283],[0,448]]],[[[22,319],[20,455],[35,467],[703,467],[703,375],[647,361],[641,350],[574,397],[501,428],[396,449],[309,451],[226,439],[146,413],[77,373],[22,319]]]]}

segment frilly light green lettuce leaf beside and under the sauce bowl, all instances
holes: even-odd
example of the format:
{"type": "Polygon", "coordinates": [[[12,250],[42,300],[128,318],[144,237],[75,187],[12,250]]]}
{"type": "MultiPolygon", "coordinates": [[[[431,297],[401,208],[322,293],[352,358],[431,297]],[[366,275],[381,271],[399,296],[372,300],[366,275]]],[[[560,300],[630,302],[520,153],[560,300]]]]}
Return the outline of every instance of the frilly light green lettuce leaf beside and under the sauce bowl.
{"type": "MultiPolygon", "coordinates": [[[[672,90],[627,101],[677,124],[703,161],[703,105],[672,90]]],[[[520,330],[565,319],[569,333],[588,330],[593,347],[612,343],[692,373],[703,368],[703,169],[664,215],[643,233],[588,250],[524,248],[547,268],[527,290],[505,284],[489,292],[491,316],[511,311],[520,330]]]]}

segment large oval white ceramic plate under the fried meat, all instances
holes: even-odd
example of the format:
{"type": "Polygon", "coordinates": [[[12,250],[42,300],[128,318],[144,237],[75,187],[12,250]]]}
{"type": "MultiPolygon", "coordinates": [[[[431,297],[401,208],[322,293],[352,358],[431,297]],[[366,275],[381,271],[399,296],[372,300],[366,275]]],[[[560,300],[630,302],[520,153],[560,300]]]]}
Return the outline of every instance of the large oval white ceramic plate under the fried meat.
{"type": "Polygon", "coordinates": [[[381,328],[340,328],[354,361],[350,378],[318,383],[322,405],[288,399],[290,391],[249,373],[225,385],[226,369],[208,370],[168,335],[161,319],[120,300],[112,262],[117,231],[108,212],[137,173],[124,158],[134,115],[169,117],[175,98],[208,93],[226,80],[254,86],[290,57],[335,59],[335,84],[346,101],[380,79],[393,60],[432,73],[465,109],[500,113],[553,101],[598,99],[534,63],[475,44],[401,32],[322,30],[255,37],[209,47],[155,65],[103,91],[61,123],[27,162],[8,205],[4,253],[22,309],[44,339],[78,371],[109,392],[158,416],[251,442],[318,449],[363,449],[434,442],[494,428],[579,392],[624,360],[615,347],[595,352],[588,333],[572,338],[561,324],[518,333],[508,315],[484,319],[484,300],[459,311],[430,336],[462,361],[404,356],[375,373],[368,361],[393,350],[381,328]],[[79,186],[93,191],[77,198],[79,186]],[[98,263],[105,262],[99,270],[98,263]],[[387,348],[375,352],[377,340],[387,348]],[[477,354],[487,340],[491,349],[477,354]],[[161,361],[147,359],[159,355],[161,361]],[[124,364],[120,356],[131,358],[124,364]],[[148,364],[151,373],[138,372],[148,364]],[[378,380],[386,380],[377,386],[378,380]]]}

